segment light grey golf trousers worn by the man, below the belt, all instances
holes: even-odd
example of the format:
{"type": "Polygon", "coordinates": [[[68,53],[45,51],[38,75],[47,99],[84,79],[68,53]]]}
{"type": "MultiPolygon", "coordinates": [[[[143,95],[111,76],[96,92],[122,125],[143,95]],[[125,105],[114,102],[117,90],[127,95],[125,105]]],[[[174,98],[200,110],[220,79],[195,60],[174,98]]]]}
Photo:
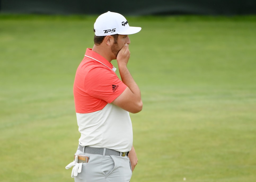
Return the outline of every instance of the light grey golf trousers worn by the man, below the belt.
{"type": "Polygon", "coordinates": [[[82,164],[82,171],[74,177],[75,182],[129,182],[131,163],[127,156],[88,154],[77,150],[76,155],[89,157],[82,164]]]}

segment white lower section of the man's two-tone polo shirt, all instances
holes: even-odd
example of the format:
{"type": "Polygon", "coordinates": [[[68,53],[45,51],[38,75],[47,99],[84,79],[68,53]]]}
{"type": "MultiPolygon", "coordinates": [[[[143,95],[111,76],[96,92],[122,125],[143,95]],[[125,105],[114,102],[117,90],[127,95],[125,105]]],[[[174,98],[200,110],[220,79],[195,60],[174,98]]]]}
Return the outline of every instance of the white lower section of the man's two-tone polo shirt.
{"type": "Polygon", "coordinates": [[[81,146],[108,148],[119,152],[131,150],[133,128],[129,112],[108,103],[100,111],[76,115],[81,146]]]}

